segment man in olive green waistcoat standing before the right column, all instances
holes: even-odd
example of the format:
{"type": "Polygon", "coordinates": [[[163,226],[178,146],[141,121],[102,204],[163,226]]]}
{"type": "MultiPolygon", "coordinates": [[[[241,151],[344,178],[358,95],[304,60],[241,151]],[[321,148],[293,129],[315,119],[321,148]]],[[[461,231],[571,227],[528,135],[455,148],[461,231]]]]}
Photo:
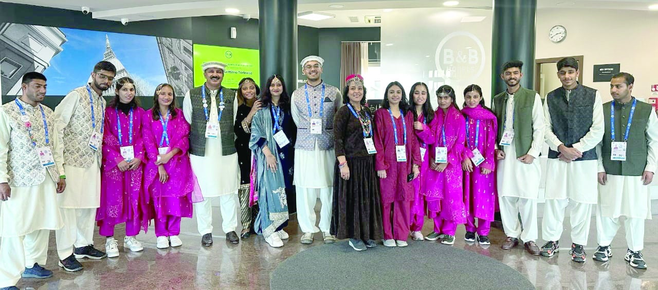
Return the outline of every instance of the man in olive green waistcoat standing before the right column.
{"type": "Polygon", "coordinates": [[[512,249],[521,239],[528,253],[540,254],[535,241],[538,239],[537,197],[542,176],[539,156],[544,145],[544,110],[540,95],[521,87],[522,66],[520,60],[503,64],[500,76],[507,84],[507,91],[495,95],[492,102],[499,128],[498,201],[507,235],[501,248],[512,249]]]}

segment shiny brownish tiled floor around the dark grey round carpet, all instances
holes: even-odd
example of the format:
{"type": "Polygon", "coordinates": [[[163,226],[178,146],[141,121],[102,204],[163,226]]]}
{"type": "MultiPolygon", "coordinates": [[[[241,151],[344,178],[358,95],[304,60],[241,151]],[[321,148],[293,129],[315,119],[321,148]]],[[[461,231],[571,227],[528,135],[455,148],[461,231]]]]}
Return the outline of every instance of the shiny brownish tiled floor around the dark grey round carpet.
{"type": "MultiPolygon", "coordinates": [[[[290,240],[282,248],[269,247],[263,237],[252,235],[238,245],[230,245],[221,232],[219,208],[213,208],[215,224],[215,244],[201,247],[201,238],[196,232],[194,219],[184,219],[180,235],[183,245],[178,248],[159,250],[155,247],[153,229],[142,233],[138,239],[145,249],[140,253],[130,253],[122,249],[118,258],[103,260],[82,260],[85,269],[80,272],[64,272],[57,268],[55,234],[51,234],[49,259],[46,268],[54,270],[53,278],[45,280],[21,279],[21,289],[268,289],[269,277],[277,264],[295,253],[309,247],[322,245],[321,234],[316,234],[313,245],[301,245],[301,233],[295,216],[286,228],[290,240]]],[[[319,209],[319,206],[318,208],[319,209]]],[[[532,256],[523,250],[522,245],[511,251],[503,251],[500,245],[505,235],[499,229],[492,229],[492,245],[468,245],[463,240],[463,226],[457,230],[457,241],[453,247],[484,254],[515,268],[526,276],[537,289],[658,289],[658,206],[653,206],[654,220],[647,220],[645,228],[645,249],[643,251],[648,270],[634,270],[624,262],[626,245],[621,229],[613,241],[613,257],[607,264],[591,259],[596,247],[595,219],[592,218],[590,240],[586,251],[585,264],[571,262],[569,230],[565,227],[561,240],[561,253],[553,258],[532,256]]],[[[541,216],[541,214],[540,214],[541,216]]],[[[427,221],[423,233],[432,231],[427,221]]],[[[568,225],[568,218],[565,219],[568,225]]],[[[541,227],[541,219],[540,219],[541,227]]],[[[117,228],[117,233],[123,228],[117,228]]],[[[122,238],[122,236],[117,237],[122,238]]],[[[541,238],[541,233],[540,233],[541,238]]],[[[544,241],[538,241],[540,246],[544,241]]],[[[104,249],[105,239],[96,235],[95,243],[104,249]]],[[[425,241],[425,243],[436,243],[425,241]]],[[[445,246],[449,247],[449,246],[445,246]]],[[[395,248],[390,249],[395,251],[395,248]]],[[[358,253],[355,253],[358,254],[358,253]]],[[[443,261],[449,263],[450,261],[443,261]]],[[[453,261],[460,262],[460,261],[453,261]]],[[[461,261],[467,262],[467,261],[461,261]]],[[[424,279],[419,276],[419,279],[424,279]]],[[[430,278],[427,278],[430,279],[430,278]]],[[[340,285],[328,285],[329,289],[340,289],[340,285]]],[[[465,289],[467,289],[465,285],[465,289]]],[[[492,285],[495,289],[495,285],[492,285]]]]}

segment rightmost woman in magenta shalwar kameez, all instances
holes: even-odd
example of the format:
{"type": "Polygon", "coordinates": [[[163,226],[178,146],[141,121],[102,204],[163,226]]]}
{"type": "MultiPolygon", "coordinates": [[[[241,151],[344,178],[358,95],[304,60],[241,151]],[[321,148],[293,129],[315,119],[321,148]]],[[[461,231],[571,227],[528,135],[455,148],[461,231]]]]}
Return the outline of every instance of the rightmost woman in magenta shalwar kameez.
{"type": "Polygon", "coordinates": [[[464,170],[464,203],[468,210],[465,241],[475,241],[478,233],[480,245],[490,245],[489,230],[493,220],[498,197],[495,188],[495,140],[498,124],[493,112],[484,105],[482,89],[478,85],[469,85],[464,90],[464,109],[466,117],[466,149],[462,155],[464,170]],[[475,149],[477,151],[474,151],[475,149]],[[474,158],[480,153],[484,160],[474,158]],[[482,162],[476,165],[476,162],[482,162]],[[478,226],[475,226],[478,218],[478,226]]]}

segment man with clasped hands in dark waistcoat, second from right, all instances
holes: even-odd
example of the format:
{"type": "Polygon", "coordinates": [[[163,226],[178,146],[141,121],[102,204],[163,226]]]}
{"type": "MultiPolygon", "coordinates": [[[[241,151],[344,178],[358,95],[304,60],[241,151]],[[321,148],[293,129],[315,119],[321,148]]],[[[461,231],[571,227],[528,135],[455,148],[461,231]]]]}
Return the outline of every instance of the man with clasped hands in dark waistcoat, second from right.
{"type": "Polygon", "coordinates": [[[603,107],[599,91],[578,84],[578,61],[567,57],[557,62],[562,83],[546,96],[545,139],[549,145],[546,166],[543,256],[559,251],[565,210],[570,204],[571,260],[585,262],[592,220],[597,203],[596,145],[603,138],[603,107]]]}

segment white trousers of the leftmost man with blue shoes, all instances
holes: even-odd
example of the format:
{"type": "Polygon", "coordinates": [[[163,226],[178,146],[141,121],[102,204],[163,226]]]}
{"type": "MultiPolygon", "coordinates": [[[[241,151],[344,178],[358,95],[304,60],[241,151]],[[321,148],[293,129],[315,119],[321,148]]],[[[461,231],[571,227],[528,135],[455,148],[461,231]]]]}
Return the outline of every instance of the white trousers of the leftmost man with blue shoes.
{"type": "Polygon", "coordinates": [[[0,243],[0,287],[15,286],[25,268],[45,265],[50,230],[36,230],[20,237],[3,237],[0,243]]]}

